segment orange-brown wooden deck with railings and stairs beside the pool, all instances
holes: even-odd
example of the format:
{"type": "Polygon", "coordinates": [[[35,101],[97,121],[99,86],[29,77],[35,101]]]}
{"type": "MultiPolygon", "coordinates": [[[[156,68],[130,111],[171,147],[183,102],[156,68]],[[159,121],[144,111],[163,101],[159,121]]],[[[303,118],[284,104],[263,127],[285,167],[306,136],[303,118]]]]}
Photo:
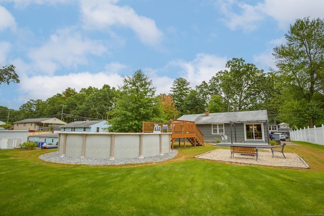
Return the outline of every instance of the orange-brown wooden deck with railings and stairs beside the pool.
{"type": "Polygon", "coordinates": [[[160,126],[161,133],[171,133],[172,149],[174,148],[174,142],[176,139],[181,139],[184,142],[184,148],[186,148],[185,141],[188,140],[191,145],[204,145],[204,135],[200,129],[195,125],[194,121],[183,121],[173,119],[171,123],[160,122],[143,122],[142,132],[153,133],[154,126],[160,126]]]}

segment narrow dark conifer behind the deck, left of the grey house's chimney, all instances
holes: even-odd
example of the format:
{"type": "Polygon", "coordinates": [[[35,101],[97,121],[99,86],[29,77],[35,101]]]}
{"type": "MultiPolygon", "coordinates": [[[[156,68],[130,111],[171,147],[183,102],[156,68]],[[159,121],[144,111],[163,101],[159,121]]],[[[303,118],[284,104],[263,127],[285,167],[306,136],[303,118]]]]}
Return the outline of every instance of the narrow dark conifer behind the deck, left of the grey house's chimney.
{"type": "Polygon", "coordinates": [[[184,111],[184,100],[189,95],[191,88],[189,87],[190,82],[185,78],[177,78],[173,81],[171,87],[171,96],[176,104],[177,110],[180,115],[185,114],[184,111]]]}

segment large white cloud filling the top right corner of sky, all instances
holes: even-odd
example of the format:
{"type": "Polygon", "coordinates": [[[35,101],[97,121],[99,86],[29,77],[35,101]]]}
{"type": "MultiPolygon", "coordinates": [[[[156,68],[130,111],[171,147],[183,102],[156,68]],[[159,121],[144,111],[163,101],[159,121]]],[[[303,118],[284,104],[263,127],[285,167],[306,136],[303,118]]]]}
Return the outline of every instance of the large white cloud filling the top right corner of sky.
{"type": "Polygon", "coordinates": [[[296,19],[304,17],[324,18],[324,1],[318,0],[264,0],[249,5],[238,0],[218,0],[219,11],[224,14],[223,21],[231,29],[255,30],[267,16],[277,21],[280,29],[286,30],[296,19]],[[238,9],[238,10],[237,10],[238,9]]]}

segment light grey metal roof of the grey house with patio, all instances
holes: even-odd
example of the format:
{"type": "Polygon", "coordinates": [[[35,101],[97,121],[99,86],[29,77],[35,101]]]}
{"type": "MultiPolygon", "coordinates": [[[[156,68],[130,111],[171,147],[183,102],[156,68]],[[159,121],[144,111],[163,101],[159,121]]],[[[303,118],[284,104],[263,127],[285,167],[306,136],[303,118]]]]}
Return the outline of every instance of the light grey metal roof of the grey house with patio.
{"type": "Polygon", "coordinates": [[[268,121],[267,110],[218,112],[206,114],[183,115],[179,120],[194,121],[196,124],[230,123],[230,122],[264,122],[268,121]]]}

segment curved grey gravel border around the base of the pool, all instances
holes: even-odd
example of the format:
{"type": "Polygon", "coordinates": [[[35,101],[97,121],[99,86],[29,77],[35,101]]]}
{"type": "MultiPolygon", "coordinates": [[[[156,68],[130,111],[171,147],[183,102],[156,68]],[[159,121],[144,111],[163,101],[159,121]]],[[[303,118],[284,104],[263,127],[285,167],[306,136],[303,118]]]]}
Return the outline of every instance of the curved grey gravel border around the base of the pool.
{"type": "Polygon", "coordinates": [[[164,155],[154,156],[154,157],[118,158],[118,159],[111,160],[108,158],[67,157],[67,156],[61,156],[59,152],[50,152],[50,153],[39,155],[38,158],[53,163],[86,164],[92,166],[101,166],[101,165],[121,165],[121,164],[133,164],[133,163],[161,162],[165,160],[170,160],[175,156],[177,156],[177,154],[178,151],[173,149],[169,153],[166,153],[164,155]]]}

